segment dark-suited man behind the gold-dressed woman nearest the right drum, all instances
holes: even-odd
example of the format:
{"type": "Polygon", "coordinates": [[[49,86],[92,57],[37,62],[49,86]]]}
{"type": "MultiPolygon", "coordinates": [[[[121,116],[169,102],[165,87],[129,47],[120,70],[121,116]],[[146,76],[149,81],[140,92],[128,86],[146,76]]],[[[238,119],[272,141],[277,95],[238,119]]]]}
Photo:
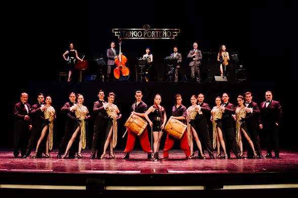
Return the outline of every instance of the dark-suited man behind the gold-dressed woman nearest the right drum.
{"type": "MultiPolygon", "coordinates": [[[[198,129],[198,133],[199,133],[199,137],[201,138],[201,142],[203,144],[203,146],[205,147],[205,149],[207,150],[210,159],[215,159],[214,155],[213,155],[213,149],[212,149],[212,144],[211,144],[211,140],[210,140],[210,134],[209,134],[209,126],[208,126],[208,122],[207,122],[207,118],[208,120],[210,119],[210,107],[207,103],[204,103],[204,94],[199,93],[198,94],[198,102],[199,102],[199,106],[200,109],[199,111],[201,111],[203,113],[203,118],[202,119],[195,119],[195,125],[196,128],[198,129]]],[[[197,115],[198,116],[198,115],[197,115]]],[[[199,158],[199,156],[198,156],[199,158]]]]}

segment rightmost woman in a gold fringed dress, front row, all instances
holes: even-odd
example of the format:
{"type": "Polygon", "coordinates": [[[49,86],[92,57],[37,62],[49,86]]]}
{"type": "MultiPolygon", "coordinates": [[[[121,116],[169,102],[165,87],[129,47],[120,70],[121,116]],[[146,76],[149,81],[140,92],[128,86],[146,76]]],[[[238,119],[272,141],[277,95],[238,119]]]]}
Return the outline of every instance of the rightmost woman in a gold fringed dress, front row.
{"type": "MultiPolygon", "coordinates": [[[[241,131],[244,135],[244,137],[247,139],[249,146],[252,149],[253,152],[253,158],[257,158],[257,153],[254,150],[254,146],[253,143],[250,139],[249,133],[247,131],[247,127],[246,127],[246,123],[245,123],[245,116],[246,116],[246,112],[245,112],[245,106],[243,104],[244,102],[244,97],[242,95],[238,95],[237,97],[237,103],[238,103],[238,107],[236,108],[235,114],[233,115],[234,120],[236,121],[236,142],[239,145],[239,149],[240,149],[240,157],[243,157],[243,144],[242,144],[242,137],[241,137],[241,131]]],[[[252,116],[252,115],[251,115],[252,116]]]]}

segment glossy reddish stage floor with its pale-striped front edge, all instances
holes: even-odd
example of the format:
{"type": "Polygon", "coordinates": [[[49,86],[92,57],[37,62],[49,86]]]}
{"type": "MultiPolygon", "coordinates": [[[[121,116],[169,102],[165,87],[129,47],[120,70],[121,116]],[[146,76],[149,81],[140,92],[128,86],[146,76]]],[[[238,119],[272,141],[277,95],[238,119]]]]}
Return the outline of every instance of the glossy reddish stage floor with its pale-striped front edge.
{"type": "MultiPolygon", "coordinates": [[[[185,159],[181,150],[170,150],[169,158],[147,160],[134,150],[129,160],[122,151],[116,159],[14,158],[12,150],[0,152],[0,186],[5,192],[16,189],[97,191],[98,193],[171,192],[198,190],[247,190],[298,188],[298,152],[283,150],[280,159],[185,159]]],[[[162,153],[160,151],[159,153],[162,153]]],[[[263,151],[265,154],[266,151],[263,151]]],[[[33,154],[33,151],[32,153],[33,154]]],[[[162,155],[161,155],[162,156],[162,155]]],[[[16,191],[14,191],[16,193],[16,191]]],[[[53,191],[52,191],[53,193],[53,191]]]]}

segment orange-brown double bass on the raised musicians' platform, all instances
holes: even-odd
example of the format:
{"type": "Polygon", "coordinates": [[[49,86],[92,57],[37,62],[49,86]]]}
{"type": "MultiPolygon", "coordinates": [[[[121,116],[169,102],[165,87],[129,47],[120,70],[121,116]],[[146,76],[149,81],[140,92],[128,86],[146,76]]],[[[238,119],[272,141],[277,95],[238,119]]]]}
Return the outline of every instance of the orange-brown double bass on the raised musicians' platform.
{"type": "Polygon", "coordinates": [[[121,54],[121,38],[119,40],[119,55],[115,59],[115,64],[117,67],[114,69],[114,77],[116,79],[119,79],[120,76],[129,76],[130,75],[130,69],[125,66],[125,63],[127,62],[127,59],[124,55],[121,54]]]}

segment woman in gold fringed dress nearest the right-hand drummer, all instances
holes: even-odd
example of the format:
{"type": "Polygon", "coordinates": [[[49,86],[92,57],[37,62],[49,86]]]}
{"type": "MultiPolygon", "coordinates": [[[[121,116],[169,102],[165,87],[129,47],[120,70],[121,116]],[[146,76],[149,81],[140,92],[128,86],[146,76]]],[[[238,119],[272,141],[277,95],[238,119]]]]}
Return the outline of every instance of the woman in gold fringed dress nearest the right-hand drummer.
{"type": "Polygon", "coordinates": [[[199,159],[206,159],[203,151],[202,151],[202,145],[201,141],[199,139],[199,136],[196,132],[195,125],[194,125],[194,119],[196,115],[199,113],[200,117],[203,116],[203,113],[200,111],[200,106],[197,105],[197,96],[192,95],[190,98],[191,106],[186,110],[186,120],[187,120],[187,137],[188,137],[188,142],[190,146],[190,157],[194,157],[194,151],[193,151],[193,140],[192,136],[194,136],[195,142],[198,146],[199,149],[199,159]]]}

